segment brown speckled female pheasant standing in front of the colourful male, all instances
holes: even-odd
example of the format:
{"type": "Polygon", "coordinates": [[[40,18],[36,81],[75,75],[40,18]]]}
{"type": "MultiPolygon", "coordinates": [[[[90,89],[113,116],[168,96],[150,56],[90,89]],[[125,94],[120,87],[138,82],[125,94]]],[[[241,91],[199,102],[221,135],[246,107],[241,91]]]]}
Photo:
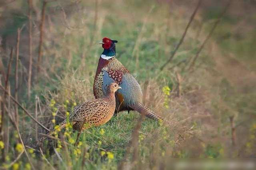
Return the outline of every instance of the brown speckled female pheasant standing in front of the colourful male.
{"type": "MultiPolygon", "coordinates": [[[[83,123],[86,125],[83,130],[92,126],[100,126],[107,123],[114,115],[116,107],[115,92],[118,89],[122,89],[118,84],[111,83],[106,87],[106,95],[92,101],[84,102],[74,108],[74,111],[70,113],[70,116],[66,118],[62,123],[59,124],[58,130],[71,125],[74,130],[80,130],[83,123]],[[85,122],[84,122],[85,120],[85,122]]],[[[56,132],[51,130],[48,135],[52,135],[56,132]]],[[[46,137],[41,138],[37,145],[42,142],[46,137]]]]}

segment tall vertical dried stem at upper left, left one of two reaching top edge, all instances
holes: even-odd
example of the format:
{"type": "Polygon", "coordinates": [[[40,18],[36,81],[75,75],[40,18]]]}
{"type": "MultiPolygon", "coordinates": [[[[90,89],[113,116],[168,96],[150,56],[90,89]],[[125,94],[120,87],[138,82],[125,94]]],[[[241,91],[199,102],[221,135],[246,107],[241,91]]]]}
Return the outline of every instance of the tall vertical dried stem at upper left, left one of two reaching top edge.
{"type": "Polygon", "coordinates": [[[28,100],[30,100],[31,93],[31,77],[32,77],[32,19],[31,6],[32,0],[28,0],[28,20],[29,20],[29,67],[28,67],[28,100]]]}

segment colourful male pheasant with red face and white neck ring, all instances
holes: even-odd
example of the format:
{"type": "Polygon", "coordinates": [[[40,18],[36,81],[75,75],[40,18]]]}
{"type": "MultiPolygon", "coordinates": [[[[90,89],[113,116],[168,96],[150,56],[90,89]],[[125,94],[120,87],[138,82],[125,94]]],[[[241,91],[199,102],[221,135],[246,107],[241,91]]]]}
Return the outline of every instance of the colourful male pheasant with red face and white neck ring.
{"type": "Polygon", "coordinates": [[[116,93],[116,110],[135,110],[151,119],[162,119],[159,115],[142,104],[142,90],[130,71],[120,63],[115,57],[116,45],[118,41],[110,38],[103,38],[102,47],[104,51],[100,55],[98,68],[94,78],[93,92],[96,99],[106,94],[106,87],[109,83],[115,82],[122,89],[116,93]]]}

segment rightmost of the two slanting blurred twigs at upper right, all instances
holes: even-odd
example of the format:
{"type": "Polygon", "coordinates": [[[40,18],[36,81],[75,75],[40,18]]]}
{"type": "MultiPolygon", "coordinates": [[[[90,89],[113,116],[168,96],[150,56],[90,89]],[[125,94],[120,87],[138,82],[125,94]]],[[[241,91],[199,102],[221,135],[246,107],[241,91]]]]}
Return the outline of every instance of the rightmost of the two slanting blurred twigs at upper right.
{"type": "Polygon", "coordinates": [[[204,40],[204,42],[202,43],[202,45],[200,46],[199,50],[197,51],[195,57],[192,60],[192,63],[190,64],[188,70],[191,70],[196,62],[196,59],[198,58],[200,52],[202,51],[202,49],[204,48],[204,45],[206,44],[206,42],[208,42],[208,40],[210,39],[210,37],[212,36],[215,28],[217,27],[217,25],[220,23],[222,17],[224,16],[224,14],[226,13],[226,11],[228,10],[228,7],[231,5],[232,0],[229,0],[228,3],[226,4],[224,10],[222,11],[222,13],[220,14],[220,16],[218,17],[218,19],[216,20],[216,22],[214,23],[212,29],[210,30],[208,36],[206,37],[206,39],[204,40]]]}

